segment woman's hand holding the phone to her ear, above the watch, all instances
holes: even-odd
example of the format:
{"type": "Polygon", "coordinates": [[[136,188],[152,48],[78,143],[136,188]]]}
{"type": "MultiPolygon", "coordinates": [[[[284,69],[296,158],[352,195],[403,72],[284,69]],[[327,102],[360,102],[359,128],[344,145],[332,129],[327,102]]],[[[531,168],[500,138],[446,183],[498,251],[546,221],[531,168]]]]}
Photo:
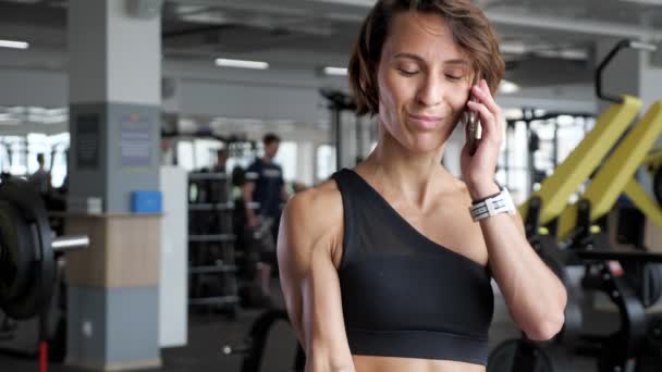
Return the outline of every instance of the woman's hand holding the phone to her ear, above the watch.
{"type": "MultiPolygon", "coordinates": [[[[471,87],[470,95],[476,101],[469,100],[467,107],[480,120],[482,136],[477,140],[476,153],[473,157],[469,156],[468,140],[465,141],[461,168],[471,199],[476,200],[499,193],[494,172],[503,141],[504,119],[485,79],[471,87]]],[[[465,137],[467,136],[465,128],[465,137]]]]}

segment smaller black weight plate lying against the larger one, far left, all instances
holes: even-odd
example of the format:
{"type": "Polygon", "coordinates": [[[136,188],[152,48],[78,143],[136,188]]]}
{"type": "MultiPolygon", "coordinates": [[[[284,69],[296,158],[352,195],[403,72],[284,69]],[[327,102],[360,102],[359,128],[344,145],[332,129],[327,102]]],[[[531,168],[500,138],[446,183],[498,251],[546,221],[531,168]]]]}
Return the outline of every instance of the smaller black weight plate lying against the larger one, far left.
{"type": "Polygon", "coordinates": [[[29,227],[10,202],[0,200],[0,306],[21,296],[29,282],[35,258],[29,227]]]}

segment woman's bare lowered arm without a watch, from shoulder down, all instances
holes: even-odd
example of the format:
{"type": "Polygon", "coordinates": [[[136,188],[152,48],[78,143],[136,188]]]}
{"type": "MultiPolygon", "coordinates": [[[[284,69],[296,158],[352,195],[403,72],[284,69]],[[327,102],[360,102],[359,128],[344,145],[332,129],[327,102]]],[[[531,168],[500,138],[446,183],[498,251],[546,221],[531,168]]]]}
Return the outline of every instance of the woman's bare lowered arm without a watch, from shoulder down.
{"type": "Polygon", "coordinates": [[[310,189],[285,206],[278,241],[290,320],[306,350],[306,372],[354,372],[333,249],[342,240],[338,190],[310,189]]]}

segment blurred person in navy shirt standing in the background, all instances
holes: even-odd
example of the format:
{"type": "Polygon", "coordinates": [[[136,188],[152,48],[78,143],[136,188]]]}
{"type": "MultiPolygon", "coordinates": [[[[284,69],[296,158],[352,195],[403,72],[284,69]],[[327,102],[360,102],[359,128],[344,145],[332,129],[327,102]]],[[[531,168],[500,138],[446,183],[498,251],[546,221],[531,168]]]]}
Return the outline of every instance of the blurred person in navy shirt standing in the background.
{"type": "Polygon", "coordinates": [[[278,241],[281,204],[289,198],[283,181],[283,170],[273,162],[280,142],[281,139],[277,135],[265,135],[262,138],[265,156],[256,159],[248,166],[243,185],[247,227],[250,231],[268,232],[267,235],[269,235],[262,237],[265,249],[260,255],[257,268],[260,275],[260,287],[265,296],[270,295],[271,270],[278,261],[275,241],[278,241]],[[254,203],[257,203],[256,208],[254,208],[254,203]]]}

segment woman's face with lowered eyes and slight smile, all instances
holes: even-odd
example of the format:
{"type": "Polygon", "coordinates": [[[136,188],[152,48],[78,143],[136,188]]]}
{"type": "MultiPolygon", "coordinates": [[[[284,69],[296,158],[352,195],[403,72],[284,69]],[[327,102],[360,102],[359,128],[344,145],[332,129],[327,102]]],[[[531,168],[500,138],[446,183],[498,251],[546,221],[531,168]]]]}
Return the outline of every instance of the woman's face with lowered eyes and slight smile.
{"type": "Polygon", "coordinates": [[[378,69],[379,121],[414,152],[438,150],[465,108],[471,64],[439,15],[394,17],[378,69]]]}

